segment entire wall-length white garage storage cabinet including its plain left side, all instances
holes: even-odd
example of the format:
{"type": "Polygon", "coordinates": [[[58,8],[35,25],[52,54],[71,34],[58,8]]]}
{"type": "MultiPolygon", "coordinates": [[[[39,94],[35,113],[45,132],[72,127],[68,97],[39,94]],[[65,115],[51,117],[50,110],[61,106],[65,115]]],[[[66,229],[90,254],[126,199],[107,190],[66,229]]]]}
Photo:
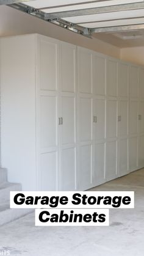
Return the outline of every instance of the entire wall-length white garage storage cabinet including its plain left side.
{"type": "Polygon", "coordinates": [[[144,167],[144,68],[42,35],[1,38],[1,161],[23,190],[144,167]]]}

